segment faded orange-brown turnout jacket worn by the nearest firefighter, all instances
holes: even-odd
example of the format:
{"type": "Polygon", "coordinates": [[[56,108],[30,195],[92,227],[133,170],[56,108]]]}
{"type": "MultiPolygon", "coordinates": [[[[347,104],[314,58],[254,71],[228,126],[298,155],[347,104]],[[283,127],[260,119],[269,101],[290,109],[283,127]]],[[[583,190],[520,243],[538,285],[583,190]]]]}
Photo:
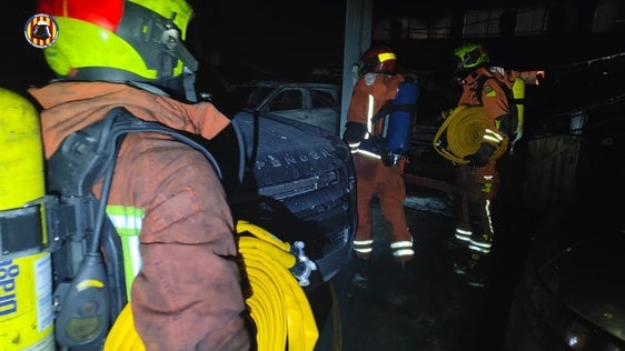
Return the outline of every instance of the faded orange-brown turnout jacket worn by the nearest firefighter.
{"type": "MultiPolygon", "coordinates": [[[[29,92],[43,108],[47,159],[63,138],[115,107],[207,139],[229,123],[210,103],[188,104],[123,83],[63,81],[29,92]]],[[[95,185],[97,197],[100,188],[95,185]]],[[[118,232],[139,235],[141,264],[130,299],[148,350],[249,349],[234,220],[220,180],[200,152],[163,134],[128,134],[107,213],[118,232]]]]}

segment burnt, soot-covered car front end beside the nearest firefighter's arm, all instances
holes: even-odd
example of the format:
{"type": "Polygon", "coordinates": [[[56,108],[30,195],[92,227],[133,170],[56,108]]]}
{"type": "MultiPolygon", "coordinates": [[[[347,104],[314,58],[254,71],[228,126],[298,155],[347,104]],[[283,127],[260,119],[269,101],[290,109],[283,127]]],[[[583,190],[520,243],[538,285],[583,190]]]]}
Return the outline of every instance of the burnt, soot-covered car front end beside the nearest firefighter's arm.
{"type": "Polygon", "coordinates": [[[244,109],[232,120],[246,163],[230,197],[235,217],[304,242],[318,275],[308,289],[329,281],[348,259],[356,230],[349,148],[324,129],[278,116],[244,109]]]}

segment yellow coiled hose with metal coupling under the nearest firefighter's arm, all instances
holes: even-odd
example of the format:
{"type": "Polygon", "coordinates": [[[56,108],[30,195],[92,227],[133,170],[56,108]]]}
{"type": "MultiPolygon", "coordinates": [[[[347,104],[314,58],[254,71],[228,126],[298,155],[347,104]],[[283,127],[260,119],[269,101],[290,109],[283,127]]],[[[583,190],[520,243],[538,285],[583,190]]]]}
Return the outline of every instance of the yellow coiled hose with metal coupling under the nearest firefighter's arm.
{"type": "MultiPolygon", "coordinates": [[[[319,332],[301,287],[316,265],[304,254],[265,229],[237,222],[239,254],[244,259],[251,294],[246,304],[256,324],[258,351],[314,350],[319,332]]],[[[135,330],[130,302],[126,304],[105,343],[105,351],[145,351],[135,330]]]]}

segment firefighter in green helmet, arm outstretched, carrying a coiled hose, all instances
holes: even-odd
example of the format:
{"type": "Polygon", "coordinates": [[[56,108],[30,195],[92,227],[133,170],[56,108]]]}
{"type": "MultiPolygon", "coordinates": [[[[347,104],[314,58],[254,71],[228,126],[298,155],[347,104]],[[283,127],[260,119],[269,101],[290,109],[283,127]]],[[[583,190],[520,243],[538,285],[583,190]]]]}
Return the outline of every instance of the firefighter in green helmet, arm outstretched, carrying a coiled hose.
{"type": "Polygon", "coordinates": [[[458,107],[480,107],[478,112],[485,120],[483,130],[475,133],[482,136],[477,150],[457,163],[455,238],[466,243],[469,259],[456,263],[455,271],[467,273],[469,284],[482,285],[485,277],[480,259],[490,252],[495,237],[492,208],[499,183],[497,159],[506,151],[519,123],[513,117],[515,106],[509,99],[514,72],[490,67],[482,44],[459,46],[454,56],[454,80],[462,87],[458,107]]]}

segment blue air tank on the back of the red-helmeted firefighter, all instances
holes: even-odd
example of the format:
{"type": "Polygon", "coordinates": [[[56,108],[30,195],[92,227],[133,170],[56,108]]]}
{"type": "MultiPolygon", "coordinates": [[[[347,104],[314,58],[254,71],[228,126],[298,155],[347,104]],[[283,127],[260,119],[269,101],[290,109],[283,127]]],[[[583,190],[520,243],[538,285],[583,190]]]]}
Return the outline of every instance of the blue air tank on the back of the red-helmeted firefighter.
{"type": "Polygon", "coordinates": [[[384,158],[385,164],[397,164],[399,158],[406,154],[410,148],[410,132],[415,122],[418,97],[419,89],[415,82],[399,83],[383,133],[388,149],[388,154],[384,158]]]}

